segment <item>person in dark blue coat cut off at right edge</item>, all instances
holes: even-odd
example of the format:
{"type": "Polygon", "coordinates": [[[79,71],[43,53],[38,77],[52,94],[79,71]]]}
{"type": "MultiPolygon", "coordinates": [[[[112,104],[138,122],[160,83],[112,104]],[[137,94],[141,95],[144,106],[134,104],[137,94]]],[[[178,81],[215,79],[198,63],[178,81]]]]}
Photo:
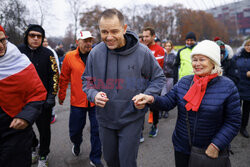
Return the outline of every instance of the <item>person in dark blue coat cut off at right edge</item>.
{"type": "Polygon", "coordinates": [[[249,120],[249,112],[250,112],[250,39],[246,40],[243,43],[243,46],[239,53],[234,56],[234,60],[236,61],[236,65],[239,71],[239,83],[238,90],[240,94],[240,99],[243,103],[242,106],[242,124],[240,133],[249,138],[249,134],[246,130],[248,120],[249,120]]]}

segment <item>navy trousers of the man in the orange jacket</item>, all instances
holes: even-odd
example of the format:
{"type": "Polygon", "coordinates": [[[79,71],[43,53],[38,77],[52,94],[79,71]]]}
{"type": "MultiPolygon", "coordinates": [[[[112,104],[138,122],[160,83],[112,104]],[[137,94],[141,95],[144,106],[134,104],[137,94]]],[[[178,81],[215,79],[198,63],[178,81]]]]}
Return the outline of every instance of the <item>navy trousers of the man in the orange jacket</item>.
{"type": "Polygon", "coordinates": [[[70,108],[69,117],[69,135],[71,142],[80,146],[82,143],[82,131],[86,124],[87,112],[90,121],[90,142],[91,142],[91,152],[89,158],[94,163],[101,163],[102,149],[101,141],[99,138],[99,125],[96,120],[96,110],[95,107],[75,107],[70,108]]]}

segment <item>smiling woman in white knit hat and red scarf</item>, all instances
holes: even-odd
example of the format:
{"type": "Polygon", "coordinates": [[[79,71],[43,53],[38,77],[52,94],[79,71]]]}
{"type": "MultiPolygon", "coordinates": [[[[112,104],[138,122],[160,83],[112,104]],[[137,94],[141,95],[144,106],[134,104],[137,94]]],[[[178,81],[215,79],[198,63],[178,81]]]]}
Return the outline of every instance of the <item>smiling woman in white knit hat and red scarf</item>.
{"type": "MultiPolygon", "coordinates": [[[[213,159],[225,153],[226,164],[220,167],[228,167],[229,145],[241,123],[237,88],[233,81],[221,76],[220,48],[215,42],[200,42],[193,49],[191,60],[194,75],[183,77],[165,96],[139,94],[132,100],[138,109],[147,103],[165,111],[178,107],[172,137],[176,167],[188,166],[191,146],[192,151],[203,150],[213,159]]],[[[199,161],[196,166],[207,163],[202,159],[199,161]]]]}

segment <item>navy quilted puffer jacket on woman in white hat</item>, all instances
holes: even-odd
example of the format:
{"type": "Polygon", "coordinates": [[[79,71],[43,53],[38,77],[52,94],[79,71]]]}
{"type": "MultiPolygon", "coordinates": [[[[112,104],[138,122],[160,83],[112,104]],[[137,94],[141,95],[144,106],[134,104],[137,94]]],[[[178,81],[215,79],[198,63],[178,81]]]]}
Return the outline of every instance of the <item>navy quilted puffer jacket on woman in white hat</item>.
{"type": "Polygon", "coordinates": [[[220,150],[229,147],[241,124],[240,98],[235,84],[224,76],[212,79],[206,88],[198,112],[187,111],[183,99],[190,88],[193,75],[184,76],[165,96],[155,97],[152,107],[169,111],[178,107],[173,133],[175,151],[190,154],[186,113],[188,112],[192,145],[207,148],[214,143],[220,150]]]}

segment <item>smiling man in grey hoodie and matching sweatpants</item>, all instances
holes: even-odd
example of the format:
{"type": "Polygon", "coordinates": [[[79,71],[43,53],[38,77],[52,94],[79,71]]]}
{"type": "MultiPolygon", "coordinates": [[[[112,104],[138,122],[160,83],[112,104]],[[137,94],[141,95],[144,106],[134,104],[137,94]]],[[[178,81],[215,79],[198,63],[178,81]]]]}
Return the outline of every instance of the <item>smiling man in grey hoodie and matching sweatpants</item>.
{"type": "Polygon", "coordinates": [[[136,167],[139,139],[148,108],[136,109],[132,98],[156,95],[164,74],[147,46],[127,31],[117,9],[99,19],[103,42],[91,50],[82,76],[83,91],[97,106],[104,159],[109,167],[136,167]]]}

